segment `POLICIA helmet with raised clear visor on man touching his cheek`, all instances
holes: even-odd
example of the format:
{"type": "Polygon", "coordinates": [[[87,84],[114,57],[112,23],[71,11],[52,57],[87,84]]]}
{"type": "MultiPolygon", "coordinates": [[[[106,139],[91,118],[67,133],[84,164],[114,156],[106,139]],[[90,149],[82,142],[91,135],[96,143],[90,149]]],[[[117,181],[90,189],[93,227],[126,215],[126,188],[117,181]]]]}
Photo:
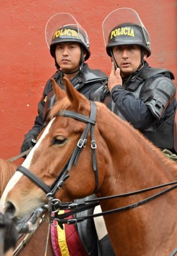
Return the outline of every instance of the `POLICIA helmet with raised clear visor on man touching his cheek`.
{"type": "Polygon", "coordinates": [[[150,36],[134,10],[120,8],[111,12],[105,18],[102,28],[109,56],[112,56],[112,47],[132,44],[140,45],[147,52],[147,57],[151,55],[150,36]]]}

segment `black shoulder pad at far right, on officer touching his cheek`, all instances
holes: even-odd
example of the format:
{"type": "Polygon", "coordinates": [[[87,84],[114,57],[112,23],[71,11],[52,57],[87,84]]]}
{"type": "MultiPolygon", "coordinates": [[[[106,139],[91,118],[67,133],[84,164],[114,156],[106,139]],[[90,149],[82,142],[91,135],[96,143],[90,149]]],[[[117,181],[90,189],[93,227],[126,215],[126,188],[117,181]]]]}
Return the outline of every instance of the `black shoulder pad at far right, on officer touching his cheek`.
{"type": "Polygon", "coordinates": [[[149,79],[150,77],[156,77],[162,74],[162,76],[169,77],[170,79],[174,79],[174,74],[165,68],[145,68],[141,72],[142,79],[149,79]]]}

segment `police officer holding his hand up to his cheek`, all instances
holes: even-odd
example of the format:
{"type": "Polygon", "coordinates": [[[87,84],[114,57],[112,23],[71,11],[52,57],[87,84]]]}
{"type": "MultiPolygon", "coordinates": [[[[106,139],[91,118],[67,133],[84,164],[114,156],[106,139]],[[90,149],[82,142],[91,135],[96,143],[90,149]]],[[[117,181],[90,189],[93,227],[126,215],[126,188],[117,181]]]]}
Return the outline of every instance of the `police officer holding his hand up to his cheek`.
{"type": "Polygon", "coordinates": [[[103,33],[112,69],[102,101],[158,148],[176,154],[174,75],[146,62],[150,36],[139,15],[130,8],[115,10],[105,18],[103,33]]]}

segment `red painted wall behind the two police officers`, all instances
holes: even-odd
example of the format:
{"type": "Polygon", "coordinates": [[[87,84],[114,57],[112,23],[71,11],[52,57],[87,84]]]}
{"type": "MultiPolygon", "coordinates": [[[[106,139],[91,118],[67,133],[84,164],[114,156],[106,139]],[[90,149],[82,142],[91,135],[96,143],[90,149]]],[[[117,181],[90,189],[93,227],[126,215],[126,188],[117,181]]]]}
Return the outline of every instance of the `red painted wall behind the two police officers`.
{"type": "MultiPolygon", "coordinates": [[[[104,18],[117,8],[133,8],[151,36],[153,67],[176,70],[176,0],[4,0],[0,3],[0,157],[20,152],[24,134],[37,115],[38,100],[55,72],[45,43],[45,24],[54,14],[71,13],[86,29],[91,68],[109,75],[111,61],[102,36],[104,18]]],[[[177,80],[176,80],[177,81],[177,80]]],[[[176,82],[175,81],[175,82],[176,82]]]]}

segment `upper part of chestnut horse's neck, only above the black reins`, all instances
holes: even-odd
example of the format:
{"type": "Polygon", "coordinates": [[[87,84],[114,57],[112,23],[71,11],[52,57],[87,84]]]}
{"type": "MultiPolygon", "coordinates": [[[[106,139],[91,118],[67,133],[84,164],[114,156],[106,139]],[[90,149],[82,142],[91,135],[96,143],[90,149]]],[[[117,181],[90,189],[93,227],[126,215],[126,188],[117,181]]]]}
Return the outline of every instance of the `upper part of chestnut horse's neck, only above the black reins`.
{"type": "MultiPolygon", "coordinates": [[[[101,110],[100,110],[101,112],[101,110]]],[[[174,165],[163,156],[158,148],[146,140],[127,122],[107,111],[98,119],[98,130],[104,139],[102,152],[106,159],[100,169],[105,170],[102,193],[115,195],[144,187],[174,181],[167,169],[174,165]],[[107,122],[109,120],[109,123],[107,122]],[[126,186],[127,185],[127,186],[126,186]]]]}

